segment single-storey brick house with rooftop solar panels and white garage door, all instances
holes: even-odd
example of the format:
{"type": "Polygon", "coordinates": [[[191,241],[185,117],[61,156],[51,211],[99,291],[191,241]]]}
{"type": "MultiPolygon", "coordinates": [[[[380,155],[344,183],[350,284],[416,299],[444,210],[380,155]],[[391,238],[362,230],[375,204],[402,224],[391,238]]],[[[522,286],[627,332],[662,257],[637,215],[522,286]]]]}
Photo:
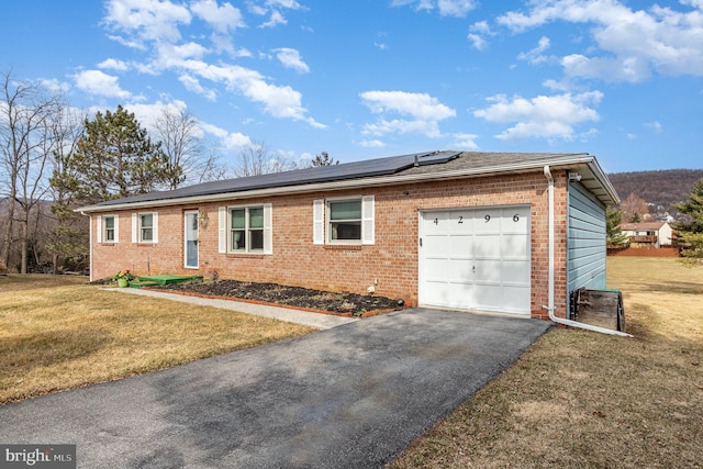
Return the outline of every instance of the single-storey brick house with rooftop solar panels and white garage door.
{"type": "Polygon", "coordinates": [[[572,290],[605,288],[616,203],[588,154],[434,152],[79,210],[92,279],[216,273],[546,319],[566,316],[572,290]]]}

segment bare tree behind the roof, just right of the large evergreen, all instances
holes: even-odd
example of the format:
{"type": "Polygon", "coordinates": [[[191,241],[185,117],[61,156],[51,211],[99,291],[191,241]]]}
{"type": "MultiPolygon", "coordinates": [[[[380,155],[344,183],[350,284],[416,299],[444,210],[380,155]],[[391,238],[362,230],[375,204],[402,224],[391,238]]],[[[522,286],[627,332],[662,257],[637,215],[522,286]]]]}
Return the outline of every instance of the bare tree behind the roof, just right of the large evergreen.
{"type": "Polygon", "coordinates": [[[154,122],[155,136],[168,157],[169,189],[185,181],[203,182],[222,179],[225,168],[216,148],[205,148],[200,123],[186,110],[165,108],[154,122]]]}

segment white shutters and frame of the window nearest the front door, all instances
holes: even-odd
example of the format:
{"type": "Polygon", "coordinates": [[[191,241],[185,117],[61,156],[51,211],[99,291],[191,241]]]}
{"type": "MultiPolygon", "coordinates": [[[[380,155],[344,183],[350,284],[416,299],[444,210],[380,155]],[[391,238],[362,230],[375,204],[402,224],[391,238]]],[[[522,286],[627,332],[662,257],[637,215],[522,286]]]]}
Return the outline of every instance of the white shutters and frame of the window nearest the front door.
{"type": "Polygon", "coordinates": [[[242,254],[242,255],[271,255],[274,254],[272,249],[272,214],[271,214],[271,204],[270,203],[256,203],[248,205],[228,205],[221,206],[219,209],[219,252],[221,254],[242,254]],[[264,210],[264,227],[250,227],[249,222],[249,210],[253,209],[263,209],[264,210]],[[233,232],[232,227],[232,212],[235,210],[244,210],[245,211],[245,227],[243,228],[246,243],[244,249],[233,249],[233,232]],[[261,249],[252,249],[252,231],[261,230],[264,236],[264,247],[261,249]]]}

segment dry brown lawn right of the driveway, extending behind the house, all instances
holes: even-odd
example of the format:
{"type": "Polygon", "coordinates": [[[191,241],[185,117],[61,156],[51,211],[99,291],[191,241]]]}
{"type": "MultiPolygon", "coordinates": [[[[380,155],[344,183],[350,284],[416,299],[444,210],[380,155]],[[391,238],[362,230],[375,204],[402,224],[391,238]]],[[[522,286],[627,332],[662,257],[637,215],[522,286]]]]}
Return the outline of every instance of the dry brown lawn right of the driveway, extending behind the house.
{"type": "Polygon", "coordinates": [[[607,261],[635,338],[554,328],[390,466],[703,467],[703,268],[607,261]]]}

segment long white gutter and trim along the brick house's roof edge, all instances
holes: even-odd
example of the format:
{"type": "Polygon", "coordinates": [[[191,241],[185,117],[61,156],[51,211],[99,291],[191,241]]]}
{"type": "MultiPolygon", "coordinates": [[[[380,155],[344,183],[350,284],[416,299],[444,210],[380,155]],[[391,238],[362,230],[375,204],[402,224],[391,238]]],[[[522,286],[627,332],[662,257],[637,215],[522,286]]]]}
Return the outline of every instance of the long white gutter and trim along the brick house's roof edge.
{"type": "MultiPolygon", "coordinates": [[[[591,171],[598,177],[599,181],[609,196],[614,200],[618,201],[620,199],[615,194],[615,190],[609,183],[607,178],[601,170],[600,166],[595,163],[595,158],[588,155],[569,155],[568,157],[561,158],[560,160],[555,160],[554,158],[549,160],[553,166],[558,166],[560,168],[576,168],[579,166],[587,165],[591,169],[591,171]]],[[[297,194],[297,193],[305,193],[305,192],[320,192],[320,191],[337,191],[345,189],[354,189],[358,187],[378,187],[378,186],[395,186],[403,183],[411,183],[423,181],[426,179],[433,180],[443,180],[443,179],[457,179],[457,178],[467,178],[467,177],[479,177],[479,176],[494,176],[501,175],[505,172],[527,172],[539,170],[543,166],[546,165],[546,161],[529,161],[529,163],[518,163],[518,164],[510,164],[502,166],[492,166],[489,168],[478,168],[478,169],[457,169],[451,171],[444,172],[421,172],[421,174],[410,174],[410,175],[392,175],[392,176],[382,176],[375,178],[362,178],[362,179],[348,179],[341,181],[330,181],[330,182],[317,182],[311,185],[300,185],[300,186],[288,186],[288,187],[275,187],[275,188],[266,188],[266,189],[255,189],[247,191],[238,191],[238,192],[223,192],[215,194],[204,194],[204,196],[191,196],[191,197],[182,197],[176,199],[163,199],[163,200],[145,200],[138,202],[123,202],[123,203],[114,203],[114,204],[105,204],[105,205],[89,205],[81,206],[75,210],[75,212],[80,212],[82,214],[93,213],[93,212],[110,212],[114,210],[133,210],[133,209],[142,209],[142,208],[155,208],[155,206],[165,206],[165,205],[187,205],[191,203],[203,203],[203,202],[219,202],[232,199],[254,199],[259,197],[270,197],[270,196],[287,196],[287,194],[297,194]]]]}

